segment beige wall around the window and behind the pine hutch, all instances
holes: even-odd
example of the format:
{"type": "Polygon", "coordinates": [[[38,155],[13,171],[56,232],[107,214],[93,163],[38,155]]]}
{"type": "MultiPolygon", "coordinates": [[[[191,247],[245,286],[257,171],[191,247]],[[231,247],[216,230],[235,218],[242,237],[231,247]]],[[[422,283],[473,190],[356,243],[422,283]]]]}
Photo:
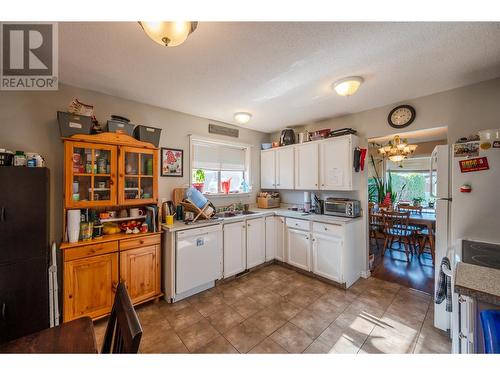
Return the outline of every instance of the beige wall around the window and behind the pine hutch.
{"type": "MultiPolygon", "coordinates": [[[[61,239],[63,207],[63,144],[60,140],[56,111],[65,111],[74,97],[84,103],[93,104],[100,123],[105,123],[111,114],[123,115],[135,124],[162,128],[160,146],[184,150],[184,177],[159,177],[160,198],[170,199],[174,187],[189,183],[188,134],[209,137],[208,124],[217,124],[208,119],[67,85],[60,85],[58,91],[0,91],[0,148],[38,152],[45,157],[51,173],[51,239],[56,241],[61,239]]],[[[251,184],[254,187],[252,194],[238,199],[220,198],[214,200],[214,203],[223,205],[238,200],[243,203],[255,202],[256,191],[260,187],[260,143],[266,142],[269,135],[240,128],[238,139],[224,136],[214,138],[254,146],[251,152],[251,184]]]]}

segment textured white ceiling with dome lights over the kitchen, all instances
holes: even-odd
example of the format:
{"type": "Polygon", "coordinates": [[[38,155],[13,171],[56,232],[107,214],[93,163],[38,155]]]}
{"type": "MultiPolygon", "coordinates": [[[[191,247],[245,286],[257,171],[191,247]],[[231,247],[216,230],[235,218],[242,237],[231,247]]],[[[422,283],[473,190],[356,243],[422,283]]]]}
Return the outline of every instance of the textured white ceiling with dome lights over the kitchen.
{"type": "Polygon", "coordinates": [[[165,48],[134,22],[61,23],[60,80],[271,132],[500,76],[500,23],[201,22],[165,48]],[[331,83],[365,79],[339,97],[331,83]]]}

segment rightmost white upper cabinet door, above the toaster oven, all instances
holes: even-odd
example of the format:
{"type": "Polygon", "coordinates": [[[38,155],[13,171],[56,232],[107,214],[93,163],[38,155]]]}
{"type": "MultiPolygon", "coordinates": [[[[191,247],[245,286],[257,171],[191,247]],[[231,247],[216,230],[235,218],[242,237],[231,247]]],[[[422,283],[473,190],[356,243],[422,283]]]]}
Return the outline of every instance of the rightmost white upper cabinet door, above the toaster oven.
{"type": "Polygon", "coordinates": [[[319,143],[320,190],[359,189],[359,173],[353,168],[356,146],[357,137],[352,135],[329,138],[319,143]]]}

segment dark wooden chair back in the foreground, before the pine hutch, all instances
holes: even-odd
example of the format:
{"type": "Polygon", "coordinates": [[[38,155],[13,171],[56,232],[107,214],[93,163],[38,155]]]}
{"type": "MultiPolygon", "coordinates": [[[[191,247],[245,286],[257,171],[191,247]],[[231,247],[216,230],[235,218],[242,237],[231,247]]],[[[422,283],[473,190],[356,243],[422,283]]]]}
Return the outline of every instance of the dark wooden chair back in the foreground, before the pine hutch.
{"type": "Polygon", "coordinates": [[[101,353],[135,354],[139,351],[142,327],[125,284],[118,284],[101,353]]]}

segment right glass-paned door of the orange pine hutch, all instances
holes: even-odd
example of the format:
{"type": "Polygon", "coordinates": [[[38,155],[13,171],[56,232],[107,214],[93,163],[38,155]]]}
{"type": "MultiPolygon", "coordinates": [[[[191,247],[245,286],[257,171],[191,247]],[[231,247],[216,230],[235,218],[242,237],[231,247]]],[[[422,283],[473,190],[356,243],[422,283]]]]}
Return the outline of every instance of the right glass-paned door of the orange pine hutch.
{"type": "Polygon", "coordinates": [[[155,150],[121,148],[120,204],[156,202],[155,156],[155,150]]]}

